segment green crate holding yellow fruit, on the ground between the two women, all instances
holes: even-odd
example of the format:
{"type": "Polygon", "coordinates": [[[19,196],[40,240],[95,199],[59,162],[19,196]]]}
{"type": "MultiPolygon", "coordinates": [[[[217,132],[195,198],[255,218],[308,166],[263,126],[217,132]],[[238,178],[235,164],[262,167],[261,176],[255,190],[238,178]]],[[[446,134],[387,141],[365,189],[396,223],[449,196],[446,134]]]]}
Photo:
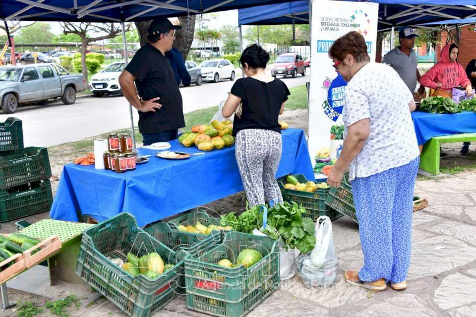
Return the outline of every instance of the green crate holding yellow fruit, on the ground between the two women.
{"type": "MultiPolygon", "coordinates": [[[[293,176],[296,177],[297,182],[299,183],[308,182],[302,174],[293,176]]],[[[320,216],[328,216],[331,220],[342,217],[339,212],[331,210],[329,206],[326,205],[326,197],[329,189],[318,189],[314,192],[289,190],[284,187],[287,183],[286,178],[287,176],[278,179],[278,185],[283,194],[283,200],[288,202],[295,201],[299,206],[304,207],[307,212],[303,214],[303,216],[311,218],[314,222],[320,216]]]]}

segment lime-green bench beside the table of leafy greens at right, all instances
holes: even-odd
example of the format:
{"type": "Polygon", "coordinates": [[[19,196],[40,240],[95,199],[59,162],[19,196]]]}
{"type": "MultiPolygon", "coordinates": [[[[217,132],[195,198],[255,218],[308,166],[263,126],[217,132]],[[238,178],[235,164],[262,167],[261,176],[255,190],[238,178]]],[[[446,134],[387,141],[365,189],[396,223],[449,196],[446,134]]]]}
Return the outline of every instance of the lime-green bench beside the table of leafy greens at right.
{"type": "Polygon", "coordinates": [[[420,169],[438,175],[440,173],[440,144],[476,141],[476,133],[452,134],[432,137],[425,143],[420,154],[420,169]]]}

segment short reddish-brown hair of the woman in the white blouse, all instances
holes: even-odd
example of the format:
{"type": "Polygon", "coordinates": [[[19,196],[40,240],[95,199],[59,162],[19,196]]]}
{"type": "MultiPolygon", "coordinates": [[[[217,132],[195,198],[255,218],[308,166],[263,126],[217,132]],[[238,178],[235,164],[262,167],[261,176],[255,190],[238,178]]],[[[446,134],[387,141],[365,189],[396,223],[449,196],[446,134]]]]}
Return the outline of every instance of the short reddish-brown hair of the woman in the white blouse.
{"type": "Polygon", "coordinates": [[[367,44],[365,44],[362,34],[350,31],[338,38],[329,49],[329,57],[331,59],[343,61],[347,54],[354,56],[357,63],[370,61],[367,53],[367,44]]]}

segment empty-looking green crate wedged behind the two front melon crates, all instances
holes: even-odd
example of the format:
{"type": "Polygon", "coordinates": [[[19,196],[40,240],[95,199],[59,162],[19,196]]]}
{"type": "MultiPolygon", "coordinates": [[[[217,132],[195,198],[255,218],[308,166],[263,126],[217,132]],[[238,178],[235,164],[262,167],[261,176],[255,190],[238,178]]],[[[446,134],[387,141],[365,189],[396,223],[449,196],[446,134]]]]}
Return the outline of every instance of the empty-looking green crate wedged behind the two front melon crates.
{"type": "Polygon", "coordinates": [[[157,222],[144,231],[172,249],[180,259],[188,254],[192,257],[203,255],[221,242],[220,232],[216,230],[205,236],[176,230],[170,223],[165,222],[157,222]]]}

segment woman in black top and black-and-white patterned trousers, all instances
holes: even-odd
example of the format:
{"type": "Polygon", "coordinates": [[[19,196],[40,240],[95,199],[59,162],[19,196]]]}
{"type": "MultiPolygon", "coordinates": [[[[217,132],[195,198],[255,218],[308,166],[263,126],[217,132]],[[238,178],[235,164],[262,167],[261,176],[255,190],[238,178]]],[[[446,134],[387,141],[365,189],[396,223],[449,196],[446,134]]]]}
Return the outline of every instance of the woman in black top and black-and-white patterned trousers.
{"type": "Polygon", "coordinates": [[[268,61],[269,54],[256,44],[243,51],[239,62],[246,77],[235,82],[222,109],[225,118],[236,112],[235,157],[249,207],[265,201],[283,202],[276,182],[282,152],[278,116],[283,113],[290,92],[284,82],[265,73],[268,61]]]}

